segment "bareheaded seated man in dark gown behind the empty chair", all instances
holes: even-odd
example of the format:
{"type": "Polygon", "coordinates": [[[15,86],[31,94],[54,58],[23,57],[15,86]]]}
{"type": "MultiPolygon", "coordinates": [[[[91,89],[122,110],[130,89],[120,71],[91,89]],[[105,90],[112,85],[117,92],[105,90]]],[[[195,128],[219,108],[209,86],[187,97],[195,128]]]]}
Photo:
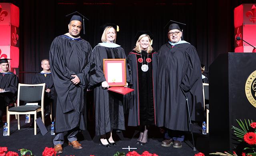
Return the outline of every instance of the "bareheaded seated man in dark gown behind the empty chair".
{"type": "Polygon", "coordinates": [[[52,74],[50,71],[50,61],[48,59],[43,59],[41,61],[41,67],[43,68],[43,70],[40,73],[36,73],[32,84],[45,83],[44,115],[47,116],[50,114],[50,102],[52,102],[52,106],[54,106],[55,89],[52,80],[52,74]]]}

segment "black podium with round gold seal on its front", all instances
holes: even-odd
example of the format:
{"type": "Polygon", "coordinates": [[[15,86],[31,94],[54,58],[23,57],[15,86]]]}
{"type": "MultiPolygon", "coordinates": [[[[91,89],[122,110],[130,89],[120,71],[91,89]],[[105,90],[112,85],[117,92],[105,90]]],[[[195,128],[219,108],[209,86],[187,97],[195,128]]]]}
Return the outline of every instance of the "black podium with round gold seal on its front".
{"type": "Polygon", "coordinates": [[[220,54],[209,67],[210,152],[232,151],[236,119],[256,121],[256,54],[220,54]],[[253,88],[255,87],[255,88],[253,88]]]}

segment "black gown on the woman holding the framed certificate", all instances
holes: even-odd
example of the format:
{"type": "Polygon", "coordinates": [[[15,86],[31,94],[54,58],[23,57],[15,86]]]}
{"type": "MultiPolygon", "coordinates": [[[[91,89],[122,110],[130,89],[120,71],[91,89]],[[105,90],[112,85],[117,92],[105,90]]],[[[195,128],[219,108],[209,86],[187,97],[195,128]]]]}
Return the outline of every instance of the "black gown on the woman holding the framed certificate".
{"type": "MultiPolygon", "coordinates": [[[[92,52],[90,86],[94,88],[96,135],[104,135],[113,129],[125,130],[123,95],[103,89],[101,86],[101,83],[106,81],[103,72],[104,58],[126,58],[126,55],[120,46],[108,48],[99,44],[92,52]]],[[[126,81],[131,82],[129,72],[126,72],[126,81]]]]}

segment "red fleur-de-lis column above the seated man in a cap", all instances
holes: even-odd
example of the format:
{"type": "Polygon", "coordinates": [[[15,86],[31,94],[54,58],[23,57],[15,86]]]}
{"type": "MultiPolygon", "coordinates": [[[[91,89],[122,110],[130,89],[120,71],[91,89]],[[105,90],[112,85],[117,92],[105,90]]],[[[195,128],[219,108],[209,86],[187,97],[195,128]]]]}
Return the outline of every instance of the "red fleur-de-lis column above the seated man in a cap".
{"type": "Polygon", "coordinates": [[[10,58],[10,69],[19,67],[20,10],[11,3],[0,3],[0,58],[10,58]]]}

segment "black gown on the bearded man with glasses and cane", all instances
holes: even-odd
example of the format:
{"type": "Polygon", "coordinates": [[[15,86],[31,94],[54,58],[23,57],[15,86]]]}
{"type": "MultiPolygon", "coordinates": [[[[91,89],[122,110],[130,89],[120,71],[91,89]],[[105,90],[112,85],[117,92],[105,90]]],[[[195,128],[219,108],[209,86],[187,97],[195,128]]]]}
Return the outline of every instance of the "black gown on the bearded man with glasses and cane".
{"type": "Polygon", "coordinates": [[[157,126],[189,131],[186,92],[192,120],[203,118],[201,64],[196,48],[188,43],[164,44],[158,57],[156,85],[157,126]]]}

